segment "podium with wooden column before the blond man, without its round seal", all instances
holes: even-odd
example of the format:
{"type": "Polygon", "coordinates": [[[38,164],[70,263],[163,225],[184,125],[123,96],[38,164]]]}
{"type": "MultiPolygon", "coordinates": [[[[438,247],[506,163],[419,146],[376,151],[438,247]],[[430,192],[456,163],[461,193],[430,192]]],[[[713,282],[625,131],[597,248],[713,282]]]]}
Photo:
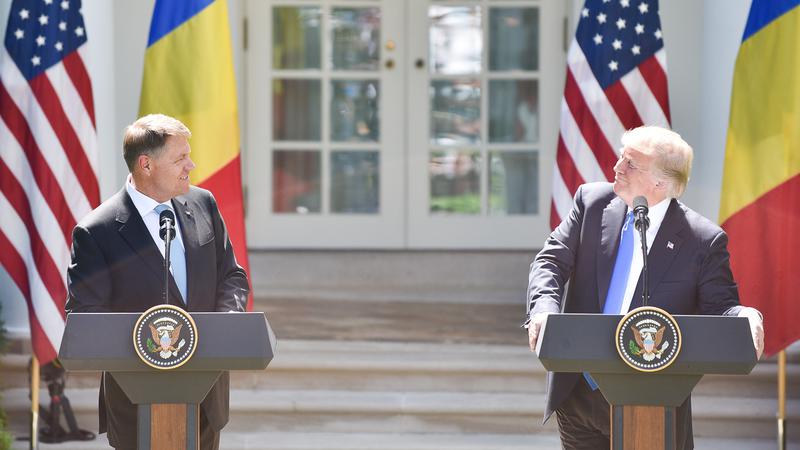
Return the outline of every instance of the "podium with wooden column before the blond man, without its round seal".
{"type": "Polygon", "coordinates": [[[674,316],[681,351],[669,367],[640,372],[615,347],[621,315],[551,314],[536,353],[551,372],[589,372],[611,405],[611,449],[675,448],[675,409],[705,374],[746,375],[757,363],[744,317],[674,316]]]}

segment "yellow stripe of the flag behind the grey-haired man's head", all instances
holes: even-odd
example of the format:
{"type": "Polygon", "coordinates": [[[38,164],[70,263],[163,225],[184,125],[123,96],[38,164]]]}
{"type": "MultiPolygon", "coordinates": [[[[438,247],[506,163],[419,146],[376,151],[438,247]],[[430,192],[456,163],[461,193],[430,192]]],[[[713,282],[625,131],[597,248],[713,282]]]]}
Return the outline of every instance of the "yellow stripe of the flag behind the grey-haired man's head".
{"type": "Polygon", "coordinates": [[[225,0],[217,0],[147,49],[140,115],[163,113],[192,130],[192,183],[239,154],[236,80],[225,0]]]}

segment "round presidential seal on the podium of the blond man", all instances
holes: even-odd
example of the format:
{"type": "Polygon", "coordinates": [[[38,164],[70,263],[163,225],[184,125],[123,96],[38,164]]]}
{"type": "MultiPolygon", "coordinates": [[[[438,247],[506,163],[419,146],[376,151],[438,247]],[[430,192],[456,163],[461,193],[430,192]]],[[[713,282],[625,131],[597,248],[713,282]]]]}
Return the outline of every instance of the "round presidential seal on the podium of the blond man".
{"type": "Polygon", "coordinates": [[[619,356],[641,372],[658,372],[669,367],[681,351],[678,322],[668,312],[653,306],[626,314],[614,336],[619,356]]]}

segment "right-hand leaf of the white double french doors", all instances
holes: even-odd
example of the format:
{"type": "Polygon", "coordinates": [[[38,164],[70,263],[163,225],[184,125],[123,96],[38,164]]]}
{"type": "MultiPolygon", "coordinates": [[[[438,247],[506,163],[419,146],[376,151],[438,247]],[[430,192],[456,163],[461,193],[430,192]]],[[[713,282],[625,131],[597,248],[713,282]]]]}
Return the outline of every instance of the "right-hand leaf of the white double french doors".
{"type": "Polygon", "coordinates": [[[408,117],[425,131],[410,136],[411,246],[524,247],[546,233],[557,122],[541,99],[558,111],[543,91],[559,91],[564,60],[540,42],[560,39],[543,18],[561,3],[411,0],[408,117]]]}

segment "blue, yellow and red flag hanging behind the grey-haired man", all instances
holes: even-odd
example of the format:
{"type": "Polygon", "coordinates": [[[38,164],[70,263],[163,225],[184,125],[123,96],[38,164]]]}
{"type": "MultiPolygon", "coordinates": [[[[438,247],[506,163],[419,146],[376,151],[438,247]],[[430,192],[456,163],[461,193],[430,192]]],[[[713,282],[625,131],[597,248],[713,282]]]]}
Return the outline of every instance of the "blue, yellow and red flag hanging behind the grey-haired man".
{"type": "Polygon", "coordinates": [[[140,115],[150,113],[175,117],[192,131],[192,184],[214,193],[236,259],[249,273],[226,0],[156,0],[139,105],[140,115]]]}

